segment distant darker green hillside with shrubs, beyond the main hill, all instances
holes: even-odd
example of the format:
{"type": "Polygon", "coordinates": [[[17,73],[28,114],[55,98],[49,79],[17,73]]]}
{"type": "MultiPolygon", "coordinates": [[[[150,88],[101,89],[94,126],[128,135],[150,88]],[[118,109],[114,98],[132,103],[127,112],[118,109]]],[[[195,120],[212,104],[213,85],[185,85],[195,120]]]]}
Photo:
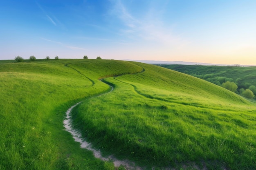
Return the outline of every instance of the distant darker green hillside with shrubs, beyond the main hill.
{"type": "Polygon", "coordinates": [[[224,82],[234,82],[237,84],[237,93],[241,93],[241,88],[251,89],[256,96],[256,67],[241,66],[202,66],[202,65],[159,65],[171,70],[186,73],[208,82],[221,86],[224,82]],[[250,87],[251,86],[251,87],[250,87]],[[254,86],[254,87],[252,87],[254,86]]]}

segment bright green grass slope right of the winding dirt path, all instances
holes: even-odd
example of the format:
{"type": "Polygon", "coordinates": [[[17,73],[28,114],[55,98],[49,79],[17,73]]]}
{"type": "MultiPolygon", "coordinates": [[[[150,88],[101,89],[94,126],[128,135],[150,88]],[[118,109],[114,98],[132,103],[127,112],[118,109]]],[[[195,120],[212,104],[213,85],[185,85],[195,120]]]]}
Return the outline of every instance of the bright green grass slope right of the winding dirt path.
{"type": "Polygon", "coordinates": [[[114,91],[74,111],[96,147],[149,167],[255,168],[254,104],[200,79],[139,65],[146,71],[106,79],[114,91]]]}

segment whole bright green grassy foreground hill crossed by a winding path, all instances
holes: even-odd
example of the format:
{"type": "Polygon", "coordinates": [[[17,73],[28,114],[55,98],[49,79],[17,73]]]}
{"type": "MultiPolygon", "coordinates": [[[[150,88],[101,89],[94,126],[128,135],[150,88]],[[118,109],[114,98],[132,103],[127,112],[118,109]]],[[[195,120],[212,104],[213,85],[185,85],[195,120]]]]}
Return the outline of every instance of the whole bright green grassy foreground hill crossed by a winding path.
{"type": "Polygon", "coordinates": [[[65,111],[104,154],[151,169],[255,169],[256,106],[159,66],[116,60],[0,61],[0,170],[114,169],[63,130],[65,111]],[[99,81],[114,86],[110,90],[99,81]]]}

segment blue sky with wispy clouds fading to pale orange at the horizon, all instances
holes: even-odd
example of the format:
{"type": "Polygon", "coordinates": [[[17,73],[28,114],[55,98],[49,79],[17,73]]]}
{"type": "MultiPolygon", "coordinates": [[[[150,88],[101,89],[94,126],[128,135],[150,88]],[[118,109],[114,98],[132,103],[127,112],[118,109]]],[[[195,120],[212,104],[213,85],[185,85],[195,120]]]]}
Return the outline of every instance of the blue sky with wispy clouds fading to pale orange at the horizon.
{"type": "Polygon", "coordinates": [[[0,60],[256,65],[256,0],[0,0],[0,60]]]}

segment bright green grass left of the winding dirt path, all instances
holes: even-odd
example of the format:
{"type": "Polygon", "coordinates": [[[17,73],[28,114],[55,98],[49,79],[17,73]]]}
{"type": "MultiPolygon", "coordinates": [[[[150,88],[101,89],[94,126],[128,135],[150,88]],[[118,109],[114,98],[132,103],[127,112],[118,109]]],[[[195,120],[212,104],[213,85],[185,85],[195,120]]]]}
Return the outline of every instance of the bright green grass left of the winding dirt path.
{"type": "Polygon", "coordinates": [[[114,168],[81,150],[63,130],[65,111],[109,90],[90,73],[108,76],[127,73],[126,67],[135,72],[141,68],[119,62],[116,70],[105,73],[101,66],[112,61],[88,60],[77,67],[74,62],[85,61],[0,62],[0,170],[114,168]]]}

